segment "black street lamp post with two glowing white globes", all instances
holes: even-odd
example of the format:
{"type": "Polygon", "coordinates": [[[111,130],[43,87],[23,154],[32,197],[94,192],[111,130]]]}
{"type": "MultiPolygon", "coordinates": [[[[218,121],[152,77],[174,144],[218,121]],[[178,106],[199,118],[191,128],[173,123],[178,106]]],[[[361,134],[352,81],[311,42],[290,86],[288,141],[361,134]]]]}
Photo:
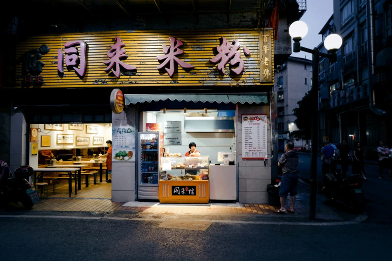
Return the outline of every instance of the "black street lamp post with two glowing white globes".
{"type": "Polygon", "coordinates": [[[311,129],[311,160],[310,160],[310,201],[309,201],[309,218],[316,218],[316,194],[317,194],[317,134],[318,134],[318,62],[319,56],[329,58],[330,61],[336,61],[336,51],[342,44],[340,35],[332,33],[324,40],[324,47],[330,53],[323,53],[317,47],[309,49],[302,47],[300,40],[305,37],[307,33],[307,25],[303,21],[293,22],[288,32],[294,40],[293,51],[305,51],[313,54],[313,83],[311,93],[311,111],[312,111],[312,129],[311,129]]]}

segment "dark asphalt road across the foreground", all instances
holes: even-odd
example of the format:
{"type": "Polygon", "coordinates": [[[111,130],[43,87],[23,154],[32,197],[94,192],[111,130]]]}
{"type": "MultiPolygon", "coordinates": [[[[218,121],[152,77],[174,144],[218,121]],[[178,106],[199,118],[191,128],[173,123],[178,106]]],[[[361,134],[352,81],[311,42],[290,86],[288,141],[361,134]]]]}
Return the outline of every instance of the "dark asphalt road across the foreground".
{"type": "Polygon", "coordinates": [[[390,256],[389,224],[213,222],[206,231],[159,221],[0,217],[2,260],[372,260],[390,256]]]}

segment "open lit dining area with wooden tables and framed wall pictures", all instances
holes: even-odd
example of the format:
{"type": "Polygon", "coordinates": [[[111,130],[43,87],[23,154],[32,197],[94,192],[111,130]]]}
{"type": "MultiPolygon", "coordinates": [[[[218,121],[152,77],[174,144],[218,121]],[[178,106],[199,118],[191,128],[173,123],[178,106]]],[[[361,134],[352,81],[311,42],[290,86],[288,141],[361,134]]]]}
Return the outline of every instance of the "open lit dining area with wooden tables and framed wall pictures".
{"type": "Polygon", "coordinates": [[[49,198],[111,198],[112,122],[31,123],[29,132],[31,181],[47,183],[49,198]]]}

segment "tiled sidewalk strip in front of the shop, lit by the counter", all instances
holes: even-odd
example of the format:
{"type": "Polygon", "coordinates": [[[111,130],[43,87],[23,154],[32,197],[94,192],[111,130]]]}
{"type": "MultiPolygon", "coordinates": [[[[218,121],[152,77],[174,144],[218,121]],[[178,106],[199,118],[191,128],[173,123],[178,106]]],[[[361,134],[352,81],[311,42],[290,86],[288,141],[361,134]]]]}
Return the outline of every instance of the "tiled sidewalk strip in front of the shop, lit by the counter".
{"type": "MultiPolygon", "coordinates": [[[[25,210],[24,207],[16,204],[8,204],[0,214],[10,214],[22,212],[33,215],[61,215],[64,212],[84,212],[86,214],[105,214],[111,212],[121,212],[127,210],[136,212],[139,215],[151,218],[211,218],[211,219],[235,219],[235,220],[255,220],[257,217],[271,217],[272,220],[299,220],[307,219],[309,216],[309,187],[304,182],[298,184],[298,195],[295,203],[295,213],[276,214],[273,212],[279,206],[268,204],[251,203],[217,203],[208,204],[162,204],[158,201],[130,201],[112,202],[111,199],[98,198],[50,198],[43,199],[33,206],[32,210],[25,210]],[[158,217],[157,217],[158,215],[158,217]],[[181,215],[181,216],[179,216],[181,215]],[[191,217],[185,217],[191,216],[191,217]],[[300,217],[300,218],[295,218],[300,217]]],[[[286,200],[286,208],[289,207],[290,199],[286,200]]],[[[317,195],[316,218],[326,221],[343,221],[356,218],[357,215],[349,215],[330,207],[324,203],[322,195],[317,195]]]]}

